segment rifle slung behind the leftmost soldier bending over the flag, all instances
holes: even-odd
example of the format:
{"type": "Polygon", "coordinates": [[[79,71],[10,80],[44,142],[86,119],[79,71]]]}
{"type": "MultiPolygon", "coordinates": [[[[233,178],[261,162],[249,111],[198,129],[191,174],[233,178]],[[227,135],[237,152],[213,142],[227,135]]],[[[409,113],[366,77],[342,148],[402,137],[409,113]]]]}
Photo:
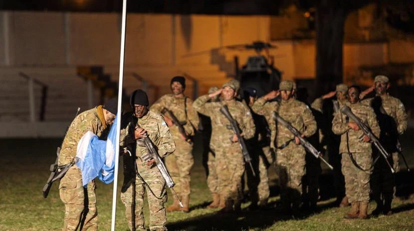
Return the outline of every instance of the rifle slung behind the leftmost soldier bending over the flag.
{"type": "MultiPolygon", "coordinates": [[[[78,107],[78,109],[76,110],[75,117],[78,116],[79,110],[80,110],[80,107],[78,107]]],[[[70,126],[70,124],[69,124],[69,126],[70,126]]],[[[65,131],[65,135],[63,137],[66,136],[66,133],[69,130],[69,126],[67,126],[66,131],[65,131]]],[[[63,138],[63,140],[64,140],[64,138],[63,138]]],[[[49,194],[50,188],[52,187],[52,183],[56,180],[60,180],[66,174],[66,172],[69,170],[69,168],[71,166],[73,166],[73,164],[74,164],[74,163],[69,163],[69,164],[65,164],[65,165],[62,165],[62,166],[58,166],[59,154],[60,154],[60,149],[61,149],[62,145],[63,145],[63,141],[60,144],[60,147],[57,147],[57,150],[56,150],[57,157],[56,157],[55,162],[50,165],[49,170],[51,172],[50,172],[49,178],[47,179],[46,184],[43,186],[43,190],[42,190],[44,198],[47,198],[47,195],[49,194]]]]}

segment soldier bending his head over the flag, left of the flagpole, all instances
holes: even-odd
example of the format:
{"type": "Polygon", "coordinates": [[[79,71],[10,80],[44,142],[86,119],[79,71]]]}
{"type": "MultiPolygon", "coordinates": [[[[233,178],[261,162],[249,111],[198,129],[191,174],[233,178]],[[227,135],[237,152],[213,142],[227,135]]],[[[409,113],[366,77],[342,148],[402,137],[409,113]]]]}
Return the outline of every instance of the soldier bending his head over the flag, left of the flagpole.
{"type": "MultiPolygon", "coordinates": [[[[117,106],[118,100],[113,98],[104,106],[99,105],[76,116],[63,140],[58,159],[59,166],[75,162],[78,142],[87,131],[93,132],[101,140],[106,140],[110,125],[117,113],[117,106]]],[[[76,164],[72,165],[60,180],[59,195],[65,204],[63,231],[98,230],[95,180],[84,188],[82,173],[76,164]]]]}

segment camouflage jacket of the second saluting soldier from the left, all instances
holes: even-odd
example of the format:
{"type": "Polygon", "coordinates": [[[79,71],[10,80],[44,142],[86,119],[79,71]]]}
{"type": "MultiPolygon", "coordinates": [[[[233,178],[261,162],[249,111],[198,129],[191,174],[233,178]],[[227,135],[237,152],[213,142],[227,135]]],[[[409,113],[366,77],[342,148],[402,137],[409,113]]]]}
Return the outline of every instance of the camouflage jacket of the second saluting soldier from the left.
{"type": "MultiPolygon", "coordinates": [[[[266,102],[266,100],[261,97],[254,102],[252,109],[255,113],[266,117],[271,116],[271,114],[276,111],[280,117],[290,122],[292,126],[305,135],[305,137],[310,137],[316,132],[317,126],[312,111],[306,104],[296,99],[292,98],[289,100],[282,100],[281,102],[266,102]]],[[[293,141],[292,139],[294,139],[294,135],[286,127],[280,124],[276,126],[274,120],[268,122],[271,130],[271,141],[275,141],[270,142],[270,147],[280,147],[290,140],[293,141]]]]}

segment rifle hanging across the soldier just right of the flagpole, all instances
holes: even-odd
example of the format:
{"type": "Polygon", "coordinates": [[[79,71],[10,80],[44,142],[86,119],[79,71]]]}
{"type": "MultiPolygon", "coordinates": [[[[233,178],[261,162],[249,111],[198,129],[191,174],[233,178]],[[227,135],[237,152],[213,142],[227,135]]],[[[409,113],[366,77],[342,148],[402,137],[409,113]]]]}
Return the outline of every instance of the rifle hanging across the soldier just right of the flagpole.
{"type": "MultiPolygon", "coordinates": [[[[140,126],[137,123],[137,128],[140,128],[140,126]]],[[[174,195],[177,197],[177,200],[180,204],[180,207],[183,208],[184,205],[181,203],[180,198],[178,198],[176,191],[174,190],[174,185],[176,185],[173,181],[173,178],[171,178],[170,173],[168,173],[167,167],[165,166],[163,160],[161,159],[160,155],[158,154],[158,151],[156,147],[154,147],[154,144],[150,140],[150,138],[143,137],[141,140],[144,142],[145,147],[147,148],[148,154],[145,154],[142,156],[142,158],[145,161],[148,161],[150,159],[155,160],[155,164],[157,165],[158,170],[160,171],[161,175],[163,176],[167,186],[173,191],[174,195]]]]}

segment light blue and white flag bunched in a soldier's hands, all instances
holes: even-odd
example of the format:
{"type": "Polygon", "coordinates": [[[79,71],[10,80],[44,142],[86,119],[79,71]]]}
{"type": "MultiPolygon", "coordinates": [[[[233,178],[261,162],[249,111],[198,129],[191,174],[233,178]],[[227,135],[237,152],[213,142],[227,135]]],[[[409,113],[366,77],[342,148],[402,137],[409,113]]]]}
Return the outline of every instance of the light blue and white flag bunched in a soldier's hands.
{"type": "Polygon", "coordinates": [[[76,150],[76,166],[82,171],[83,186],[95,177],[105,184],[114,181],[116,118],[106,141],[88,131],[79,140],[76,150]]]}

